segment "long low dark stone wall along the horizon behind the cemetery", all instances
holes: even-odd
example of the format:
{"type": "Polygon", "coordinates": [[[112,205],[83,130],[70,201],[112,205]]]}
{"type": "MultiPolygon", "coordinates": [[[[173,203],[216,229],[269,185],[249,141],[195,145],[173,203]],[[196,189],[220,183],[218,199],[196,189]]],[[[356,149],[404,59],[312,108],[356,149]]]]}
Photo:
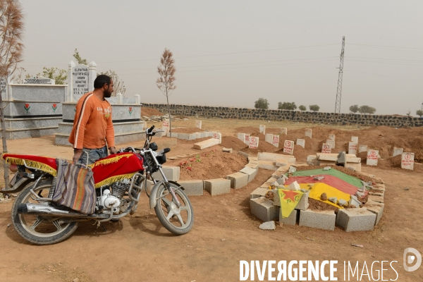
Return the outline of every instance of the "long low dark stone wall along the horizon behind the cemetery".
{"type": "MultiPolygon", "coordinates": [[[[142,106],[167,112],[166,104],[142,104],[142,106]]],[[[199,118],[238,118],[265,121],[297,121],[301,123],[330,123],[339,125],[385,125],[391,127],[423,126],[423,118],[412,116],[381,116],[364,114],[334,114],[313,111],[284,111],[265,109],[228,108],[224,106],[170,105],[171,114],[198,116],[199,118]]]]}

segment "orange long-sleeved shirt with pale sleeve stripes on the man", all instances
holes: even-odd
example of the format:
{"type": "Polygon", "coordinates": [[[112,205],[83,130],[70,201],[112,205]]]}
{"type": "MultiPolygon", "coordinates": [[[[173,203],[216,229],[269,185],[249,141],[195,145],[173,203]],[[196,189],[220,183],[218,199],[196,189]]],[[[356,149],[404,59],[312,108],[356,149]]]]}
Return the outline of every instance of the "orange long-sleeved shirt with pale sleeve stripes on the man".
{"type": "Polygon", "coordinates": [[[75,119],[68,141],[75,149],[114,147],[114,127],[109,101],[101,101],[92,92],[76,104],[75,119]]]}

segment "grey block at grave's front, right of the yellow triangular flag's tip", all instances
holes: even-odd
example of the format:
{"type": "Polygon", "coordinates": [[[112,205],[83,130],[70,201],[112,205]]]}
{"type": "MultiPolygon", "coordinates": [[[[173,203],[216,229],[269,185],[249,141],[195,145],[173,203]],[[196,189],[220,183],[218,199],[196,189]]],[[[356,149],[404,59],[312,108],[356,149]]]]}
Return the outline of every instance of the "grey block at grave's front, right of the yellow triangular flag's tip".
{"type": "Polygon", "coordinates": [[[333,211],[300,211],[300,226],[335,230],[336,214],[333,211]]]}

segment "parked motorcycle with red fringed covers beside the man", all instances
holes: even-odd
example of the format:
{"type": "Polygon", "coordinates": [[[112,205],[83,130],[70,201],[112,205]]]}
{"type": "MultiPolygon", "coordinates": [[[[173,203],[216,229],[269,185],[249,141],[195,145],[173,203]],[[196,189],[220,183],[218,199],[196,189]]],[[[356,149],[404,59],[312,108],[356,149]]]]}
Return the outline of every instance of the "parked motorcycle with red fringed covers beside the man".
{"type": "MultiPolygon", "coordinates": [[[[9,187],[0,191],[6,194],[19,192],[12,207],[12,223],[16,232],[37,245],[59,243],[75,232],[80,221],[95,220],[101,224],[134,214],[140,195],[145,191],[149,197],[149,207],[154,208],[157,218],[168,231],[176,235],[188,233],[194,223],[192,205],[185,195],[184,188],[166,179],[161,165],[166,162],[166,153],[171,149],[157,151],[157,144],[152,142],[152,136],[155,135],[153,129],[154,125],[147,128],[142,149],[125,147],[116,154],[117,157],[127,157],[133,164],[138,161],[139,163],[133,166],[133,171],[130,171],[132,166],[129,166],[127,161],[127,167],[121,169],[125,168],[126,172],[129,170],[130,173],[125,173],[120,178],[109,178],[114,179],[112,183],[98,181],[94,172],[97,196],[94,214],[82,214],[52,201],[57,182],[54,168],[51,168],[54,165],[31,166],[34,161],[30,159],[37,156],[4,157],[11,163],[11,169],[13,166],[18,169],[9,187]],[[163,180],[154,179],[153,173],[157,171],[163,180]],[[147,191],[147,179],[154,183],[150,192],[147,191]]],[[[109,157],[113,156],[115,155],[109,157]]],[[[51,163],[52,160],[54,163],[56,161],[52,158],[44,159],[51,163]]],[[[101,161],[102,159],[97,162],[101,164],[101,161]]],[[[93,166],[96,166],[97,162],[93,166]]],[[[107,170],[112,165],[116,167],[116,164],[103,163],[97,166],[97,171],[107,170]]],[[[94,171],[94,168],[92,170],[94,171]]]]}

